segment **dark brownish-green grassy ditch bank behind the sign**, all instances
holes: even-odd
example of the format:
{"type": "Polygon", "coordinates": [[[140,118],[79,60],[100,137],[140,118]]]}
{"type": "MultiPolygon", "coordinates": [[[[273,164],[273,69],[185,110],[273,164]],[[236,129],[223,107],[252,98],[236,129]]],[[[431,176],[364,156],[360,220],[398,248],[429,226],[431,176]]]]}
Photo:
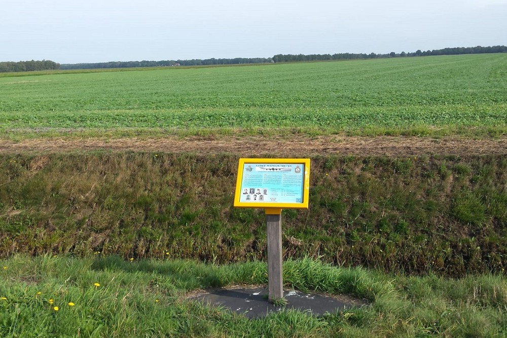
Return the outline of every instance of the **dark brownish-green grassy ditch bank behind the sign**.
{"type": "MultiPolygon", "coordinates": [[[[266,258],[262,210],[232,207],[238,156],[0,155],[0,257],[266,258]]],[[[409,275],[507,268],[507,161],[312,158],[310,209],[284,210],[284,257],[409,275]]]]}

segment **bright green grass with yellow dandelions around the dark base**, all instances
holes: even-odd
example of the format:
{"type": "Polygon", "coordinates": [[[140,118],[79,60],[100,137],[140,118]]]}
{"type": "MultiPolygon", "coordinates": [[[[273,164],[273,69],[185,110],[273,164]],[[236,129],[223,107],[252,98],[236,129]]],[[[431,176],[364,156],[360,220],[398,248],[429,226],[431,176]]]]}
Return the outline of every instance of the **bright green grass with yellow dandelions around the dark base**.
{"type": "Polygon", "coordinates": [[[0,270],[0,335],[6,337],[507,334],[507,283],[494,275],[404,277],[289,259],[283,267],[287,286],[353,294],[367,298],[369,305],[323,317],[289,311],[249,320],[185,295],[231,283],[265,284],[267,267],[261,261],[219,266],[101,255],[16,255],[0,260],[0,267],[6,268],[0,270]],[[316,274],[290,273],[308,270],[316,274]]]}

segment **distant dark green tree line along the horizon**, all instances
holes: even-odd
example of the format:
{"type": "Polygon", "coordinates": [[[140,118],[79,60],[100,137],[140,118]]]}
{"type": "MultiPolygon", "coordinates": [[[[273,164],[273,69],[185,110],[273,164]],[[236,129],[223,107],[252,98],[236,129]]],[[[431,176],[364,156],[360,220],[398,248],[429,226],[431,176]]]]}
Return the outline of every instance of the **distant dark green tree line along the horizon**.
{"type": "Polygon", "coordinates": [[[19,61],[0,62],[0,72],[7,71],[32,71],[50,69],[102,69],[102,68],[135,68],[135,67],[163,67],[163,66],[206,66],[220,64],[252,64],[266,62],[303,62],[303,61],[329,61],[329,60],[354,60],[375,59],[390,57],[413,57],[430,55],[458,55],[458,54],[483,54],[483,53],[507,53],[506,46],[492,47],[455,47],[437,50],[421,51],[413,53],[376,54],[376,53],[337,53],[337,54],[277,54],[268,58],[232,58],[232,59],[192,59],[192,60],[162,60],[162,61],[111,61],[98,63],[65,63],[59,64],[50,60],[42,61],[19,61]]]}

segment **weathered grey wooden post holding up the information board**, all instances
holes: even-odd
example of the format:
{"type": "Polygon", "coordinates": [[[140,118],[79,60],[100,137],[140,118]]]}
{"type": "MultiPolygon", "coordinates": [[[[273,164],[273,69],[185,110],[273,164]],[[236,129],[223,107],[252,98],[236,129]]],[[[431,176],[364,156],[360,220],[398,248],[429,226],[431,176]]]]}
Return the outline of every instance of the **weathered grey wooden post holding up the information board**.
{"type": "MultiPolygon", "coordinates": [[[[268,212],[268,211],[267,211],[268,212]]],[[[278,214],[266,212],[268,227],[268,298],[283,298],[282,276],[282,218],[278,214]]]]}

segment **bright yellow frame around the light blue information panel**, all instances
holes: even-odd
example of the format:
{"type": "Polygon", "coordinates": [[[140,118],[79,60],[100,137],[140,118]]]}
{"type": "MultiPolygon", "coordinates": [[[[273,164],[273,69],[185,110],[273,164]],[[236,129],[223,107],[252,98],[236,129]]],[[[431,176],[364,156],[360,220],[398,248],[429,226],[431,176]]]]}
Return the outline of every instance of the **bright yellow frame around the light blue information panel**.
{"type": "Polygon", "coordinates": [[[234,194],[234,206],[241,208],[264,208],[266,214],[279,214],[281,209],[308,209],[310,196],[310,159],[259,159],[240,158],[238,176],[236,179],[236,191],[234,194]],[[243,168],[245,164],[303,164],[303,202],[302,203],[277,203],[277,202],[241,202],[241,183],[243,181],[243,168]]]}

